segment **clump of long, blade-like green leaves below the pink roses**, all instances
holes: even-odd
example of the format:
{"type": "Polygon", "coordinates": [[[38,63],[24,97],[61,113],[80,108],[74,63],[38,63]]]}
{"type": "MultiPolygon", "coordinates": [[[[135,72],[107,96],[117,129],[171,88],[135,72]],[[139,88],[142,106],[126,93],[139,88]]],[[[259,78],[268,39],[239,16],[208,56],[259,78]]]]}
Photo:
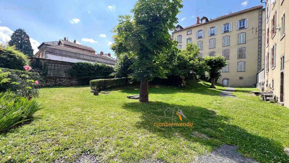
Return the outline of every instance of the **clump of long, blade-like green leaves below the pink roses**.
{"type": "Polygon", "coordinates": [[[37,118],[33,114],[42,109],[35,99],[20,98],[12,91],[0,93],[0,106],[0,131],[37,118]]]}

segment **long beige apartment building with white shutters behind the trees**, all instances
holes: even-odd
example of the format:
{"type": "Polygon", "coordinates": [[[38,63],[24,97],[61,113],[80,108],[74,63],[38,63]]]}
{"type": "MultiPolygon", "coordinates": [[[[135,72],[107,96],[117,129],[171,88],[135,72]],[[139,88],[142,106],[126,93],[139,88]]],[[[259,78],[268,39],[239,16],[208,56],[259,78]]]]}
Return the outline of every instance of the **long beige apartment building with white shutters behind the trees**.
{"type": "Polygon", "coordinates": [[[197,23],[192,26],[177,25],[172,38],[179,42],[180,49],[185,49],[189,42],[196,43],[201,57],[223,55],[228,65],[221,70],[222,77],[217,83],[255,86],[256,74],[264,68],[265,10],[262,8],[255,6],[210,20],[197,17],[197,23]]]}

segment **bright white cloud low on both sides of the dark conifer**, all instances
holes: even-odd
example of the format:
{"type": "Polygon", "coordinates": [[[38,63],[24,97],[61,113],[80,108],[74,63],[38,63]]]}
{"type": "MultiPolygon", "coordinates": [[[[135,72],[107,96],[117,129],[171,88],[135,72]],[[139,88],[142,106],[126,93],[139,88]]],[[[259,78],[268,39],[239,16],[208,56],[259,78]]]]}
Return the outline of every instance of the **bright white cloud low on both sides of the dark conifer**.
{"type": "MultiPolygon", "coordinates": [[[[8,27],[0,27],[0,42],[10,41],[12,33],[13,31],[10,30],[8,27]]],[[[30,38],[29,40],[33,49],[33,53],[35,54],[36,52],[38,52],[37,47],[40,45],[40,43],[32,38],[30,38]]]]}

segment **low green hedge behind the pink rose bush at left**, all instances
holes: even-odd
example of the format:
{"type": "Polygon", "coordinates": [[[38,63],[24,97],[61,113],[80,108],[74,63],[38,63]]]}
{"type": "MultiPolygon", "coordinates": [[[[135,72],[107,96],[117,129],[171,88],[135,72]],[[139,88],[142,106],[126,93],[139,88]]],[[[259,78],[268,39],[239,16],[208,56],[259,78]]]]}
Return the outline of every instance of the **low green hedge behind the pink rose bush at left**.
{"type": "Polygon", "coordinates": [[[0,91],[5,91],[7,89],[15,91],[15,90],[20,89],[18,88],[18,86],[20,85],[11,84],[11,83],[12,82],[26,82],[26,79],[23,79],[21,81],[18,81],[16,79],[16,76],[21,76],[22,74],[29,75],[29,79],[38,80],[39,81],[38,86],[41,86],[41,84],[43,84],[43,79],[42,77],[40,77],[39,73],[33,73],[33,72],[21,71],[21,70],[11,70],[8,68],[0,68],[0,69],[1,69],[1,73],[10,72],[10,74],[7,77],[7,78],[10,78],[10,82],[0,84],[0,91]]]}

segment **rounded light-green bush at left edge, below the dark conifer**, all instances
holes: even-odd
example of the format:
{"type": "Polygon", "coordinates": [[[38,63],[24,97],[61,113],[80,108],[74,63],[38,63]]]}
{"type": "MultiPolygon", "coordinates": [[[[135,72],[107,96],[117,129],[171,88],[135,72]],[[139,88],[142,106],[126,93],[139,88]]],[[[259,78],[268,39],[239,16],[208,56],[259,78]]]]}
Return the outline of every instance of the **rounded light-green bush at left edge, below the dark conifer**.
{"type": "Polygon", "coordinates": [[[14,46],[0,44],[0,67],[15,70],[24,70],[23,66],[29,64],[27,55],[16,50],[14,46]]]}

